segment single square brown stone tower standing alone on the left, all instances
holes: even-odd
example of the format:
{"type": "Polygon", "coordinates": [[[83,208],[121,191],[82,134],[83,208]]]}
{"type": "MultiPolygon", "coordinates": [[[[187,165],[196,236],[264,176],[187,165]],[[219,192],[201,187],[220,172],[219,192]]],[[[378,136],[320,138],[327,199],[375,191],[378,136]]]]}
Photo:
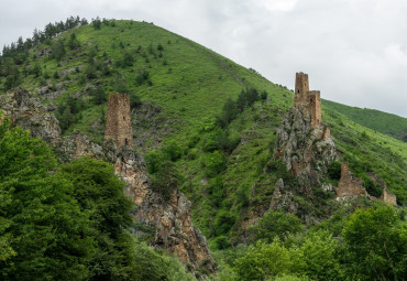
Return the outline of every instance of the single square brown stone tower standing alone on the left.
{"type": "Polygon", "coordinates": [[[133,145],[129,95],[116,93],[109,96],[105,139],[113,140],[118,148],[133,145]]]}

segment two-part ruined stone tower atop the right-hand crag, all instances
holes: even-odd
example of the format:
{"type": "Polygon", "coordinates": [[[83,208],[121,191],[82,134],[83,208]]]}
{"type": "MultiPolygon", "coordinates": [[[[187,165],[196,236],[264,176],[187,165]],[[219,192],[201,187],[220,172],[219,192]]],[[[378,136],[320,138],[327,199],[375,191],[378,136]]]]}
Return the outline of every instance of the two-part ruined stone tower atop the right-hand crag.
{"type": "Polygon", "coordinates": [[[311,117],[311,126],[321,125],[321,97],[319,90],[309,90],[308,74],[296,73],[294,106],[311,117]]]}

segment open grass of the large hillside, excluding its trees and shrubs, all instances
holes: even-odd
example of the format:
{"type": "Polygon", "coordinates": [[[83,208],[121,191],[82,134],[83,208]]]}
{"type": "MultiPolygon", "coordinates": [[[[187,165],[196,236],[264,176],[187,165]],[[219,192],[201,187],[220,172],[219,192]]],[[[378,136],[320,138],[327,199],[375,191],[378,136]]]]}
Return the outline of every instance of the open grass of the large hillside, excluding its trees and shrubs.
{"type": "MultiPolygon", "coordinates": [[[[183,156],[176,162],[185,179],[182,188],[194,203],[195,224],[208,237],[222,235],[217,227],[220,210],[228,212],[232,221],[241,221],[248,218],[253,209],[270,202],[278,174],[264,174],[263,166],[272,159],[275,129],[279,126],[280,114],[293,106],[293,93],[204,46],[150,23],[117,21],[117,26],[102,25],[101,30],[94,30],[91,25],[80,26],[61,34],[59,37],[67,40],[72,32],[77,34],[81,46],[76,51],[67,50],[59,65],[50,57],[38,57],[36,62],[29,63],[38,63],[51,74],[75,66],[82,67],[78,74],[74,72],[68,77],[47,79],[50,85],[66,83],[66,91],[53,101],[56,105],[63,104],[68,96],[97,83],[103,85],[108,93],[113,91],[118,82],[121,82],[131,95],[160,105],[163,109],[162,118],[173,120],[169,125],[173,127],[172,133],[163,134],[163,142],[158,145],[146,140],[142,150],[160,150],[172,141],[183,149],[183,156]],[[120,47],[120,42],[123,43],[123,48],[120,47]],[[148,51],[150,44],[153,52],[148,51]],[[164,47],[162,56],[157,51],[158,44],[164,47]],[[124,52],[130,52],[135,62],[133,66],[114,67],[117,72],[109,76],[98,72],[96,79],[87,80],[85,85],[79,84],[78,80],[88,64],[87,54],[96,46],[97,61],[119,61],[124,52]],[[141,51],[138,51],[139,46],[141,51]],[[135,83],[138,73],[144,69],[150,72],[152,86],[138,86],[135,83]],[[220,114],[227,98],[235,99],[248,86],[266,90],[272,104],[257,101],[229,126],[229,133],[239,136],[241,142],[231,154],[224,154],[227,167],[218,175],[223,186],[217,187],[221,190],[222,198],[216,203],[210,190],[216,186],[213,182],[217,176],[208,176],[206,167],[212,154],[205,152],[202,148],[213,136],[215,117],[220,114]],[[197,143],[187,148],[187,141],[193,136],[197,137],[197,143]]],[[[44,46],[37,47],[35,52],[42,47],[44,46]]],[[[29,75],[24,78],[23,86],[37,93],[38,79],[29,75]]],[[[96,106],[86,95],[81,101],[85,104],[81,118],[66,133],[77,129],[101,140],[102,131],[95,131],[91,126],[103,115],[106,105],[96,106]]],[[[331,126],[338,148],[350,162],[351,170],[359,174],[365,170],[374,171],[386,180],[388,187],[405,203],[407,144],[354,123],[334,111],[330,102],[323,101],[322,106],[323,121],[331,126]]],[[[148,122],[145,123],[147,129],[150,126],[148,122]]],[[[138,136],[138,128],[134,129],[138,136]]],[[[305,205],[302,209],[307,209],[308,203],[304,199],[301,203],[305,205]]],[[[311,212],[322,213],[317,208],[311,212]]]]}

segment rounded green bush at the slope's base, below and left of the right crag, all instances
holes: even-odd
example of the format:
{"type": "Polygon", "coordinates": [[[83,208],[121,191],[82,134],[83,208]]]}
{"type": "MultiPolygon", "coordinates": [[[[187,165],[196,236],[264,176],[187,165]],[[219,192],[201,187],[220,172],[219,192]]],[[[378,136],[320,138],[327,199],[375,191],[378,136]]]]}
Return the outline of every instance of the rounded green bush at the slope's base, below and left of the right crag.
{"type": "Polygon", "coordinates": [[[298,217],[283,212],[268,210],[258,219],[258,224],[248,229],[254,240],[271,242],[278,237],[284,239],[288,234],[296,234],[302,230],[302,225],[298,217]]]}

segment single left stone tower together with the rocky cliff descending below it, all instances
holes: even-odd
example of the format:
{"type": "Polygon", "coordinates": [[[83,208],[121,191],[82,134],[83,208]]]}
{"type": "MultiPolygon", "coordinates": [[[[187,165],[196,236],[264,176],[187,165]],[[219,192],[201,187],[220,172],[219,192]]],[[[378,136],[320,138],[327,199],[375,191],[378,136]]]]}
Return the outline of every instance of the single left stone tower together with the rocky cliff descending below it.
{"type": "Polygon", "coordinates": [[[127,183],[124,192],[135,203],[135,219],[155,229],[151,244],[175,253],[184,264],[189,264],[191,271],[205,269],[213,273],[216,262],[207,239],[191,221],[191,203],[178,188],[172,192],[167,202],[151,188],[152,180],[144,160],[132,149],[129,95],[109,96],[105,139],[113,140],[119,150],[114,172],[127,183]]]}

